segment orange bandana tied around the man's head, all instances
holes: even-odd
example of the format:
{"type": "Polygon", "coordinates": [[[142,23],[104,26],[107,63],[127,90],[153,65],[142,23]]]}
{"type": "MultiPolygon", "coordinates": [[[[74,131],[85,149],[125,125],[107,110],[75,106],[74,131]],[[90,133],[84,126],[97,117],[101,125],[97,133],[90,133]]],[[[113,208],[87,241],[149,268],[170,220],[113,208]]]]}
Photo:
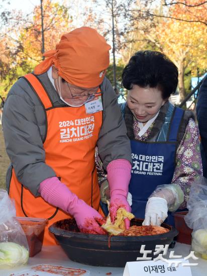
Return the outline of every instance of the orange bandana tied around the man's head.
{"type": "Polygon", "coordinates": [[[56,50],[44,53],[46,59],[35,67],[35,74],[45,73],[51,65],[58,75],[76,86],[98,86],[109,67],[109,50],[104,37],[96,30],[81,27],[65,34],[56,45],[56,50]]]}

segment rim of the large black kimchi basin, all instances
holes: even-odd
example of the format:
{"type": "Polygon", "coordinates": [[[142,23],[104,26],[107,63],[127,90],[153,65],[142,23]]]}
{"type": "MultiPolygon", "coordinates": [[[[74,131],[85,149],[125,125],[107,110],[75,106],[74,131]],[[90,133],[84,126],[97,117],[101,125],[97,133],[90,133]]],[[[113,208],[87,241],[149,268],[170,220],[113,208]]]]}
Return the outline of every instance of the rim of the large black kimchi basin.
{"type": "MultiPolygon", "coordinates": [[[[70,220],[70,219],[62,219],[62,220],[54,222],[52,225],[50,225],[49,231],[56,236],[64,236],[64,237],[68,237],[68,238],[94,240],[94,237],[95,237],[95,240],[99,240],[99,241],[108,241],[109,240],[109,237],[110,237],[109,235],[98,235],[98,234],[96,235],[96,234],[74,232],[74,231],[64,230],[64,229],[61,229],[60,227],[56,226],[56,223],[59,223],[64,220],[70,220]]],[[[135,220],[143,221],[143,219],[135,219],[135,220]]],[[[156,239],[161,239],[161,240],[169,239],[169,238],[175,237],[178,234],[178,230],[171,225],[162,223],[161,226],[163,226],[163,227],[167,226],[165,228],[167,228],[167,229],[171,228],[171,229],[167,233],[158,234],[158,235],[151,235],[151,236],[113,236],[112,235],[110,239],[111,239],[111,241],[125,241],[127,239],[127,241],[131,241],[131,242],[143,241],[143,240],[144,241],[153,241],[156,239]]]]}

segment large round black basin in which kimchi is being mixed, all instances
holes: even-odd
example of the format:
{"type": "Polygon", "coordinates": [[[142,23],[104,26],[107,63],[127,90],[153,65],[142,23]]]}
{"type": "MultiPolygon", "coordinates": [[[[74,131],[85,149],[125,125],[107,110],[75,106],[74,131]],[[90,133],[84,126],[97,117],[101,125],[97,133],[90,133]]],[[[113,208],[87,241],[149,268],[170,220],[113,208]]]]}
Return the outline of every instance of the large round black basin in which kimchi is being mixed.
{"type": "MultiPolygon", "coordinates": [[[[143,219],[133,219],[131,226],[142,226],[143,219]]],[[[109,236],[80,233],[74,219],[64,219],[53,223],[49,231],[55,235],[68,257],[76,262],[94,266],[124,267],[127,261],[136,261],[143,257],[141,245],[145,250],[152,250],[148,257],[154,258],[157,244],[170,244],[178,231],[163,223],[166,233],[147,236],[109,236]]]]}

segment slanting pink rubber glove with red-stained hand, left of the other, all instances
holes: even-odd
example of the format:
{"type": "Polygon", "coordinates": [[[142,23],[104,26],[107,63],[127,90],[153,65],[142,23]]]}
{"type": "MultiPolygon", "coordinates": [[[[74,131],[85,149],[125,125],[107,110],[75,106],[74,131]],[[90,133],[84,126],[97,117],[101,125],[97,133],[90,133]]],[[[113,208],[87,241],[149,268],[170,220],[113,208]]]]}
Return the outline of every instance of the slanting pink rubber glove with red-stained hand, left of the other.
{"type": "Polygon", "coordinates": [[[106,234],[106,231],[100,227],[106,223],[106,219],[73,194],[57,177],[51,177],[41,182],[39,193],[48,203],[70,213],[75,218],[81,232],[106,234]]]}

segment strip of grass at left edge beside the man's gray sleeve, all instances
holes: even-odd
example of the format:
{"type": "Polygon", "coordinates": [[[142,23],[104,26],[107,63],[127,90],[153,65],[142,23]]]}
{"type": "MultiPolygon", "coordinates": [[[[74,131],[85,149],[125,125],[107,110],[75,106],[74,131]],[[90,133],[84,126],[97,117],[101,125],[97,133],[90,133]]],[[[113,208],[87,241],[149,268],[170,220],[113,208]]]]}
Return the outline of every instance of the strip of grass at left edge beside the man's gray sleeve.
{"type": "Polygon", "coordinates": [[[6,189],[5,178],[9,164],[10,160],[5,150],[2,125],[0,124],[0,189],[6,189]]]}

